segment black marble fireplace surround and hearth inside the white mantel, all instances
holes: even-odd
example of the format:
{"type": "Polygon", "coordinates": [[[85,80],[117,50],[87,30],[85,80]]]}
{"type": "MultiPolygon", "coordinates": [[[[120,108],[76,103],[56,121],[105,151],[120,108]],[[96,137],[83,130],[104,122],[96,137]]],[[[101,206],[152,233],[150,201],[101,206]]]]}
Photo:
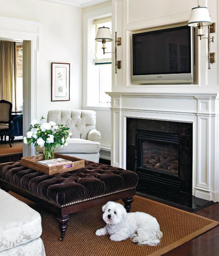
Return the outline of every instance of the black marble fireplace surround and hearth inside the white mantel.
{"type": "MultiPolygon", "coordinates": [[[[213,203],[213,201],[192,196],[192,123],[142,118],[127,118],[126,121],[126,169],[138,174],[139,183],[136,191],[139,195],[165,201],[191,211],[197,211],[213,203]],[[169,139],[169,137],[172,138],[169,139]],[[178,167],[177,171],[174,170],[175,173],[145,166],[143,145],[147,144],[148,148],[152,148],[150,143],[152,146],[158,143],[158,148],[160,145],[175,148],[174,154],[176,155],[176,152],[178,154],[176,156],[178,167]]],[[[156,153],[151,155],[154,157],[156,153]]],[[[167,157],[168,153],[164,158],[167,157]]]]}

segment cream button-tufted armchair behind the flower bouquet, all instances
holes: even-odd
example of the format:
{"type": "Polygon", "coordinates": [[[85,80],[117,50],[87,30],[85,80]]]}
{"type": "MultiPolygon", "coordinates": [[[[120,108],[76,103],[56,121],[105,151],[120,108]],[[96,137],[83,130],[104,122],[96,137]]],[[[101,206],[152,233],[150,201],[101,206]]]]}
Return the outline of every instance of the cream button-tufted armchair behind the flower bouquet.
{"type": "MultiPolygon", "coordinates": [[[[47,115],[49,121],[65,125],[72,133],[68,145],[55,148],[55,153],[99,162],[100,132],[96,130],[94,110],[50,110],[47,115]]],[[[43,152],[40,146],[36,150],[37,154],[43,152]]]]}

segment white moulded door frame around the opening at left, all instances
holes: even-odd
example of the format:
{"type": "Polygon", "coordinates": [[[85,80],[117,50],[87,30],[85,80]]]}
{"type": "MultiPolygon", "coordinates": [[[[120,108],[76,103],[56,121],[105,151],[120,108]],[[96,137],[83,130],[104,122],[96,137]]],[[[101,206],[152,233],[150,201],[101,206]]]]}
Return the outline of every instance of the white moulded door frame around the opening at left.
{"type": "MultiPolygon", "coordinates": [[[[0,37],[23,41],[23,135],[37,117],[37,51],[41,22],[0,16],[0,37]]],[[[23,144],[23,157],[33,156],[34,146],[23,144]]]]}

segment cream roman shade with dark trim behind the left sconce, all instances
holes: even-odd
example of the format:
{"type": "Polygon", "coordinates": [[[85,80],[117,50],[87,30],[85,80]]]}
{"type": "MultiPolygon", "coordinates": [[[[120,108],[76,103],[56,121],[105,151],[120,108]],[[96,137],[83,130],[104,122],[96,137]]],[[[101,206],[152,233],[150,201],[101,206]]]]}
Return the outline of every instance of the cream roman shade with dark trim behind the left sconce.
{"type": "MultiPolygon", "coordinates": [[[[102,18],[98,20],[94,20],[95,25],[95,35],[98,31],[98,28],[105,26],[109,28],[111,32],[111,19],[112,17],[102,18]]],[[[111,53],[103,53],[102,42],[95,41],[95,52],[94,52],[94,62],[95,63],[111,63],[111,53]]],[[[111,43],[106,43],[106,52],[111,52],[111,43]]]]}

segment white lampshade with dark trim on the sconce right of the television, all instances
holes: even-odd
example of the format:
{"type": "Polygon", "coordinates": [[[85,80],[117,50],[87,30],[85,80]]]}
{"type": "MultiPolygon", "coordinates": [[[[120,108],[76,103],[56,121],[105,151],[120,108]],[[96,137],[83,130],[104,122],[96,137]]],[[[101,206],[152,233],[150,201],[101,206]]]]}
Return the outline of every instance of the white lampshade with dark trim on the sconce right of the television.
{"type": "Polygon", "coordinates": [[[195,7],[192,8],[188,26],[197,27],[197,23],[202,22],[203,26],[209,26],[212,24],[207,7],[195,7]]]}

